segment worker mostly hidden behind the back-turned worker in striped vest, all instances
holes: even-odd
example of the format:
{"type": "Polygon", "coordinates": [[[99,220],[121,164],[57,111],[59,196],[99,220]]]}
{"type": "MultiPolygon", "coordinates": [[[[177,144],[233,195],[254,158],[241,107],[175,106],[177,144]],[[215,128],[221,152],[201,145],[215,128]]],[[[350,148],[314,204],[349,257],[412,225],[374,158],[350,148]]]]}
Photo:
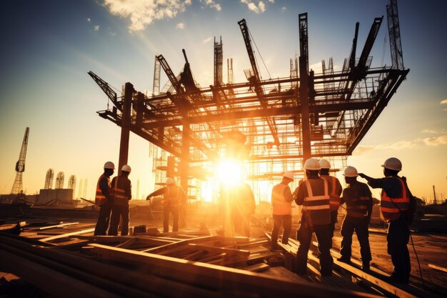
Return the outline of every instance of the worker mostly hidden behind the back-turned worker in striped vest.
{"type": "Polygon", "coordinates": [[[335,224],[337,223],[338,207],[340,207],[340,194],[341,184],[336,177],[329,176],[329,169],[331,164],[326,159],[320,160],[320,177],[326,179],[329,184],[329,199],[331,210],[331,237],[333,237],[333,231],[335,230],[335,224]]]}

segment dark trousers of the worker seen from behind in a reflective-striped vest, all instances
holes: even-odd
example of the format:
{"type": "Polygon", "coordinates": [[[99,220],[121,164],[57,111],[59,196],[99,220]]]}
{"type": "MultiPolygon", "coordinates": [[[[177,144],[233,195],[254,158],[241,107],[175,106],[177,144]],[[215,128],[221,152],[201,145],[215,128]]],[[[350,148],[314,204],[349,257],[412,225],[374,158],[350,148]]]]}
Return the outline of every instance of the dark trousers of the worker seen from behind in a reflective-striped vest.
{"type": "Polygon", "coordinates": [[[299,228],[297,240],[300,242],[300,246],[296,254],[296,274],[306,274],[307,253],[309,247],[311,247],[313,232],[315,232],[318,241],[321,275],[326,277],[331,276],[333,264],[330,251],[332,247],[331,224],[314,224],[313,231],[310,227],[299,228]]]}

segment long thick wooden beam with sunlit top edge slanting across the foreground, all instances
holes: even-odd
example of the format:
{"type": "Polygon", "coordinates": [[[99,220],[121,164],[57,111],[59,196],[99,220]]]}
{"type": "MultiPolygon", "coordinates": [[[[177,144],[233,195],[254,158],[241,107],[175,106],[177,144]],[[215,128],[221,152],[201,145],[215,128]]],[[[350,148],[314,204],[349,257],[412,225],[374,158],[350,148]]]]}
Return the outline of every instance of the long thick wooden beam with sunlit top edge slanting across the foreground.
{"type": "MultiPolygon", "coordinates": [[[[239,290],[258,294],[261,297],[281,297],[281,295],[292,295],[299,297],[377,297],[375,295],[361,292],[347,292],[316,284],[304,282],[288,282],[276,277],[264,274],[248,272],[241,269],[221,267],[201,262],[191,262],[184,259],[149,254],[146,252],[135,252],[129,249],[107,247],[101,244],[91,244],[94,252],[102,259],[113,262],[120,260],[135,266],[144,266],[149,274],[172,279],[177,282],[192,284],[196,287],[228,291],[239,290]]],[[[292,297],[290,296],[290,297],[292,297]]],[[[286,297],[286,296],[284,296],[286,297]]]]}

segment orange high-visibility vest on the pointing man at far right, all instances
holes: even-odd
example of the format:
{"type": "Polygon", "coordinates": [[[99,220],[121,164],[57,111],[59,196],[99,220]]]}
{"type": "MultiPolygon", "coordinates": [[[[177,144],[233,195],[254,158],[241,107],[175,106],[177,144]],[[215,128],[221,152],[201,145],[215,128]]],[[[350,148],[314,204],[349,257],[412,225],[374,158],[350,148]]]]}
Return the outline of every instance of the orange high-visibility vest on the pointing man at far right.
{"type": "Polygon", "coordinates": [[[392,222],[400,217],[400,211],[408,209],[410,204],[410,197],[408,197],[406,186],[402,179],[396,177],[401,183],[402,196],[398,198],[388,197],[386,192],[382,189],[381,194],[381,217],[384,222],[392,222]],[[400,209],[400,211],[399,211],[400,209]]]}

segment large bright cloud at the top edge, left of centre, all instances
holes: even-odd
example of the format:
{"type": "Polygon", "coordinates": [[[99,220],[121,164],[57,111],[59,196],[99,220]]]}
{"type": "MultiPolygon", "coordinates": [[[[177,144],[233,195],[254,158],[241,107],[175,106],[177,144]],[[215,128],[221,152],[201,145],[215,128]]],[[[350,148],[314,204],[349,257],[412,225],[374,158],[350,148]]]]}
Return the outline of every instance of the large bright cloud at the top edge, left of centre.
{"type": "Polygon", "coordinates": [[[184,12],[191,0],[103,0],[104,7],[114,16],[130,19],[129,31],[136,32],[146,29],[153,21],[173,19],[184,12]]]}

